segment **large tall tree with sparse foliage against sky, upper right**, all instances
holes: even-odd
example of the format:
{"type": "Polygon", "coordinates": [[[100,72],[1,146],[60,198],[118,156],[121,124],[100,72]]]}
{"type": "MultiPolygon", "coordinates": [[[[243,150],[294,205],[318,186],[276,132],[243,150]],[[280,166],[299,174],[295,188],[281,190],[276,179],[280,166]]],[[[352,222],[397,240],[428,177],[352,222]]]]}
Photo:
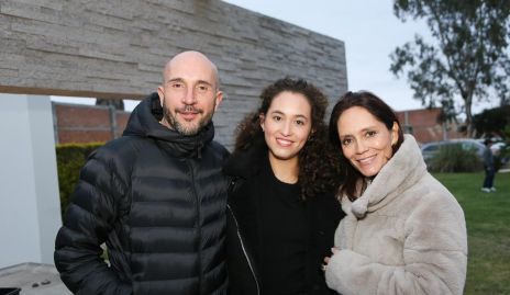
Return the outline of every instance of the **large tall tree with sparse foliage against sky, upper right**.
{"type": "Polygon", "coordinates": [[[463,100],[466,132],[473,132],[473,100],[508,98],[510,0],[395,0],[393,12],[424,19],[436,44],[415,35],[390,55],[390,70],[407,72],[413,98],[423,105],[463,100]]]}

